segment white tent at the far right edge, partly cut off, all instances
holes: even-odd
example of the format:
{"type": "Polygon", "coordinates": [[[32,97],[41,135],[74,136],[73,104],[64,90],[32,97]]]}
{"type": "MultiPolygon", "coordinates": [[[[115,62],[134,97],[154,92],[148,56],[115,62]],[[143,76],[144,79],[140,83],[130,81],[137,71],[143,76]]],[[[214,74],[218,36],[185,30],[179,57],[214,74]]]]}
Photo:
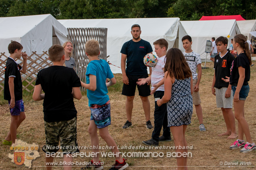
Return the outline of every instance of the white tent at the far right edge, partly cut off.
{"type": "Polygon", "coordinates": [[[247,35],[248,40],[251,39],[250,32],[256,31],[256,19],[236,21],[241,34],[247,35]]]}

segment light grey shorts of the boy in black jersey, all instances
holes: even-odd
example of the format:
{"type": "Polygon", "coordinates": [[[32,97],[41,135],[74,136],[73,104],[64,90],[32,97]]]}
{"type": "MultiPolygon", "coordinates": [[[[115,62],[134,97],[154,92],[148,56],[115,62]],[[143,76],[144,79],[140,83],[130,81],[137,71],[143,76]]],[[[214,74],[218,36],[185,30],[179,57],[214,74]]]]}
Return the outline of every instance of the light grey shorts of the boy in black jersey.
{"type": "Polygon", "coordinates": [[[216,104],[217,108],[233,108],[233,95],[231,90],[231,97],[225,98],[225,93],[227,91],[227,87],[215,88],[216,92],[216,104]]]}

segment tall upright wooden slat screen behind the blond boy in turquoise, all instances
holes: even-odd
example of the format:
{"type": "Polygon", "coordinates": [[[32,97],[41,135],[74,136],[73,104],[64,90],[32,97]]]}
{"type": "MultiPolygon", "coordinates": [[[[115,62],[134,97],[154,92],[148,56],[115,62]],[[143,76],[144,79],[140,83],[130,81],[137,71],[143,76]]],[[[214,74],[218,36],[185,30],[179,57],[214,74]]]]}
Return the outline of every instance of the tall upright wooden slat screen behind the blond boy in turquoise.
{"type": "MultiPolygon", "coordinates": [[[[73,57],[76,61],[75,71],[80,80],[85,81],[86,68],[89,63],[85,54],[85,43],[90,39],[99,42],[100,59],[107,60],[107,28],[68,28],[68,40],[73,43],[73,57]]],[[[85,88],[82,88],[85,90],[85,88]]]]}

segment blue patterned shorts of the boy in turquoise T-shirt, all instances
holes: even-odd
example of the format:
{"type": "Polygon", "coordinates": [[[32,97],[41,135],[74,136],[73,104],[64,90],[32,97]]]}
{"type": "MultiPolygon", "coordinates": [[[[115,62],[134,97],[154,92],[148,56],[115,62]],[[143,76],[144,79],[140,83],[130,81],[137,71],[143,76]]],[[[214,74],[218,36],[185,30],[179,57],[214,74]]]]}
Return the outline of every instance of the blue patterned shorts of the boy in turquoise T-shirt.
{"type": "Polygon", "coordinates": [[[107,102],[103,105],[92,105],[90,107],[91,118],[94,121],[97,128],[107,127],[111,123],[110,118],[110,103],[107,102]]]}

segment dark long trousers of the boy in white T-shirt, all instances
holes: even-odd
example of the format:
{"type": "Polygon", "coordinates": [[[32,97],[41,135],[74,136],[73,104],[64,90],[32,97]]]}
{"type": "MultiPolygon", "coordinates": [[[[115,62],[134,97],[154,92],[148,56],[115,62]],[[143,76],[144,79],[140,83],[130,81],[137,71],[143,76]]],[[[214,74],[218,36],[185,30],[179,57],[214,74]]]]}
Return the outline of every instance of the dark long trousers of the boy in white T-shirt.
{"type": "MultiPolygon", "coordinates": [[[[154,93],[154,98],[159,98],[162,99],[162,97],[164,96],[164,91],[155,91],[154,93]]],[[[171,137],[171,132],[170,132],[170,128],[167,127],[168,126],[168,122],[167,122],[167,104],[164,103],[162,104],[160,107],[157,105],[156,101],[155,101],[155,112],[154,112],[154,131],[152,132],[152,138],[155,141],[159,141],[159,136],[160,136],[160,132],[161,129],[163,127],[163,136],[165,138],[170,138],[171,137]]]]}

